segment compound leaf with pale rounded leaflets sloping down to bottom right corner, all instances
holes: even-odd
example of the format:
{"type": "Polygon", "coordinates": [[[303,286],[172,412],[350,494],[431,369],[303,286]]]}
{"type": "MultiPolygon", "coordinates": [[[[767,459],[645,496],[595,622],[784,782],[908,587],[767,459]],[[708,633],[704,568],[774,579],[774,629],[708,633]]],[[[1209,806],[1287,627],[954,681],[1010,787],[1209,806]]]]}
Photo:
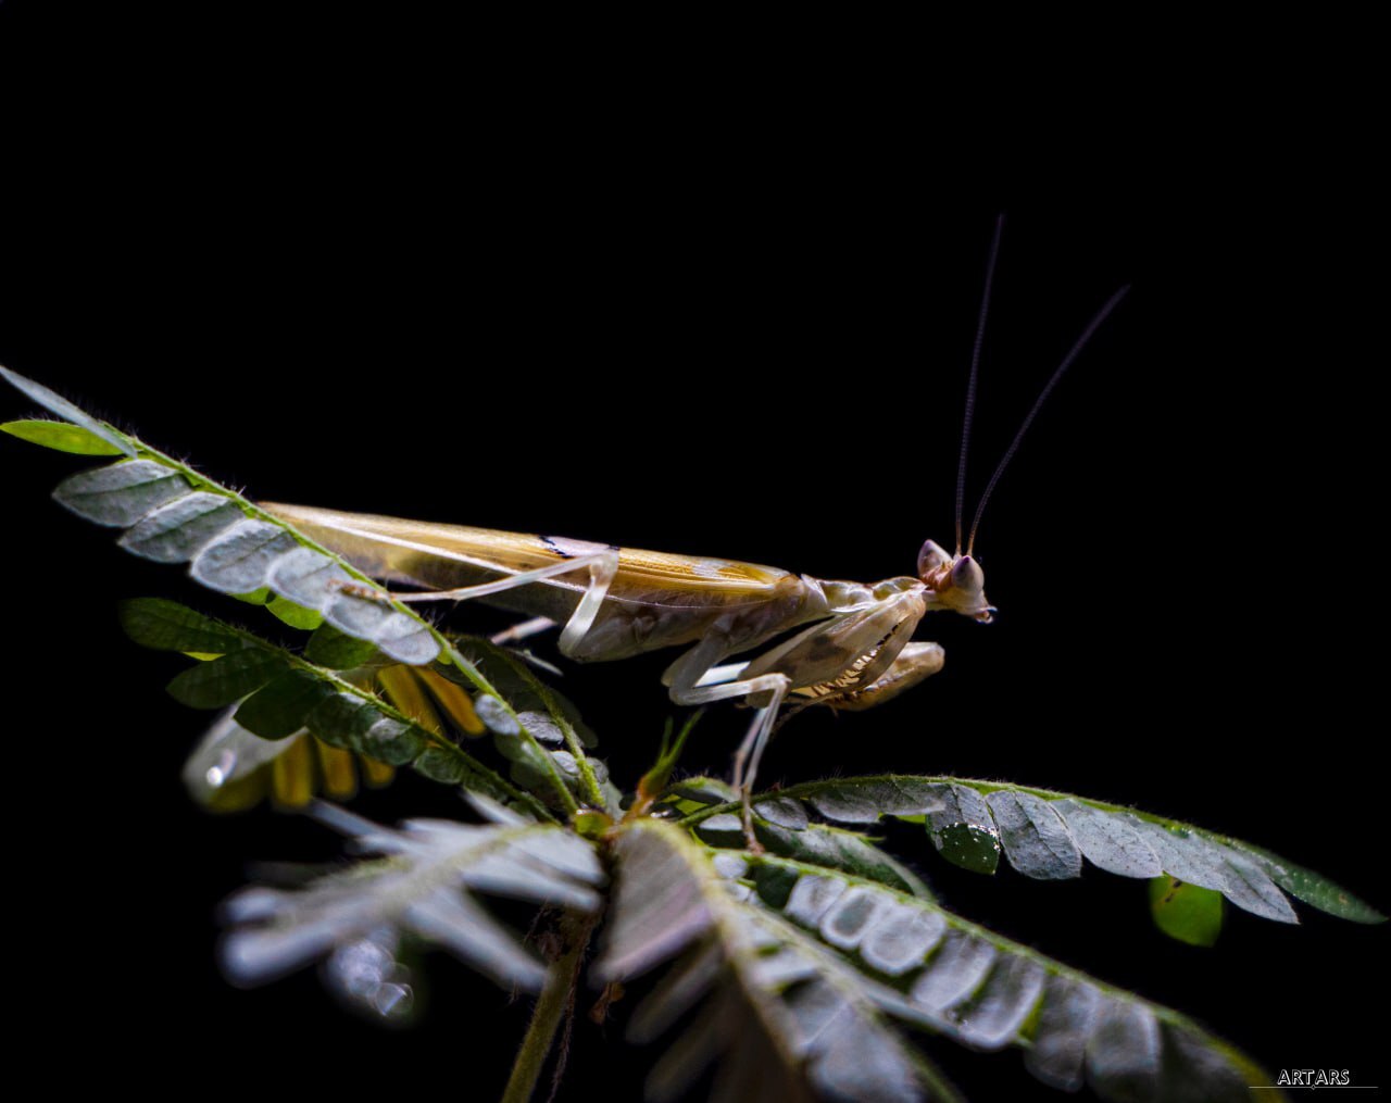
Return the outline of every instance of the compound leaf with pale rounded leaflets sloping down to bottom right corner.
{"type": "Polygon", "coordinates": [[[780,880],[754,876],[757,899],[836,954],[822,960],[823,969],[853,969],[864,997],[883,1011],[971,1049],[1022,1049],[1029,1071],[1054,1088],[1088,1082],[1102,1099],[1125,1103],[1249,1103],[1246,1085],[1270,1084],[1248,1057],[1177,1011],[932,901],[772,855],[746,858],[778,868],[780,880]],[[776,893],[764,896],[764,885],[776,893]]]}

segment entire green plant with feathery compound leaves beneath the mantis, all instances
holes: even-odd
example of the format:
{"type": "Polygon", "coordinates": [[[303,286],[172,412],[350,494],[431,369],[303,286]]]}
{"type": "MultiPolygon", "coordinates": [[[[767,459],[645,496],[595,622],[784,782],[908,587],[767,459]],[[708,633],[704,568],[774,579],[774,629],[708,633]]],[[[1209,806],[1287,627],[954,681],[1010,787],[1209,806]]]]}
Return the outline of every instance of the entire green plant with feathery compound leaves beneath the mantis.
{"type": "Polygon", "coordinates": [[[342,999],[394,1021],[410,1010],[405,950],[438,946],[504,988],[541,996],[508,1099],[536,1086],[574,983],[618,985],[661,965],[666,974],[626,1026],[634,1042],[662,1043],[654,1100],[679,1097],[711,1065],[716,1099],[957,1100],[929,1057],[943,1043],[1017,1050],[1040,1082],[1085,1084],[1107,1100],[1224,1103],[1270,1084],[1177,1011],[943,908],[865,833],[885,818],[926,835],[931,847],[910,860],[935,850],[993,873],[1003,855],[1046,880],[1078,876],[1085,860],[1149,879],[1156,924],[1193,944],[1216,939],[1224,900],[1277,922],[1295,922],[1287,893],[1345,919],[1383,918],[1249,843],[1052,790],[944,776],[812,782],[754,797],[751,844],[726,783],[670,782],[677,739],[626,798],[591,754],[594,733],[522,657],[442,634],[241,495],[3,374],[72,426],[15,421],[6,431],[122,456],[67,478],[60,504],[122,529],[120,544],[135,555],[188,563],[195,581],[250,602],[235,608],[271,633],[166,599],[121,606],[138,644],[203,659],[170,693],[224,709],[185,771],[199,800],[227,796],[223,807],[236,807],[249,798],[236,786],[267,769],[300,771],[285,790],[296,800],[284,803],[302,805],[314,762],[346,796],[357,761],[369,776],[410,765],[459,787],[483,821],[391,829],[310,804],[370,857],[294,890],[235,896],[228,978],[262,983],[319,960],[342,999]],[[484,732],[491,739],[479,739],[484,732]],[[544,954],[488,911],[490,897],[538,910],[544,954]],[[598,954],[584,976],[591,944],[598,954]]]}

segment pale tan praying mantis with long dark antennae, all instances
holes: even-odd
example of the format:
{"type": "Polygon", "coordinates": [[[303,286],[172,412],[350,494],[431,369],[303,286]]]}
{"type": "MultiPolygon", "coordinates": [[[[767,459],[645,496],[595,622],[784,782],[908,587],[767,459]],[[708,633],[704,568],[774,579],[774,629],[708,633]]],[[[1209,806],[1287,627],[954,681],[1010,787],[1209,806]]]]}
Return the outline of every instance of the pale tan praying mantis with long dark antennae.
{"type": "Polygon", "coordinates": [[[392,593],[399,601],[480,598],[533,618],[513,638],[563,625],[559,648],[570,659],[604,662],[687,647],[662,676],[672,701],[705,705],[743,698],[757,709],[734,757],[733,776],[753,844],[753,783],[785,702],[872,708],[942,669],[944,652],[939,644],[911,641],[929,611],[951,609],[989,623],[995,608],[985,597],[985,573],[974,558],[985,504],[1043,401],[1127,291],[1121,288],[1106,302],[1054,370],[990,477],[963,542],[967,444],[999,243],[1000,225],[986,266],[971,357],[957,469],[956,551],[947,554],[940,544],[926,541],[914,576],[874,584],[825,580],[757,563],[565,537],[274,502],[260,506],[366,574],[424,587],[420,593],[392,593]],[[762,655],[725,663],[793,629],[801,631],[762,655]]]}

